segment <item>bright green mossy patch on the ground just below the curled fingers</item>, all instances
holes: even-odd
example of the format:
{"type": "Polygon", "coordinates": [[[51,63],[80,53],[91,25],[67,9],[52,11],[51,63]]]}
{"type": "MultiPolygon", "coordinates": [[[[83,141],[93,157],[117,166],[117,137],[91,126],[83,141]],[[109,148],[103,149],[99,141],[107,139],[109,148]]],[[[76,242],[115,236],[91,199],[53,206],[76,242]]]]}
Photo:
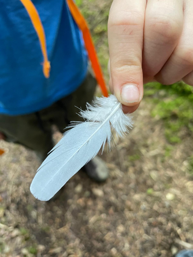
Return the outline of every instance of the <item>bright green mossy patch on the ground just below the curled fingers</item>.
{"type": "Polygon", "coordinates": [[[170,86],[149,83],[145,85],[144,96],[156,104],[152,116],[164,120],[165,136],[169,143],[181,141],[180,132],[183,127],[193,132],[192,87],[183,82],[170,86]]]}

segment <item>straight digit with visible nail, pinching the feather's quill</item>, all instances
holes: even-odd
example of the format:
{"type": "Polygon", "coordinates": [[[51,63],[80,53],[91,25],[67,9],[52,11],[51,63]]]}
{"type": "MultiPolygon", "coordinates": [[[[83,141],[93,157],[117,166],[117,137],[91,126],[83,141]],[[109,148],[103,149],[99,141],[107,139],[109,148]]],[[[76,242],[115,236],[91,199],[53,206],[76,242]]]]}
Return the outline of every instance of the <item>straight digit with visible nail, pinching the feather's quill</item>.
{"type": "Polygon", "coordinates": [[[110,10],[108,39],[111,80],[114,94],[126,106],[138,106],[143,97],[145,8],[146,0],[114,0],[110,10]]]}

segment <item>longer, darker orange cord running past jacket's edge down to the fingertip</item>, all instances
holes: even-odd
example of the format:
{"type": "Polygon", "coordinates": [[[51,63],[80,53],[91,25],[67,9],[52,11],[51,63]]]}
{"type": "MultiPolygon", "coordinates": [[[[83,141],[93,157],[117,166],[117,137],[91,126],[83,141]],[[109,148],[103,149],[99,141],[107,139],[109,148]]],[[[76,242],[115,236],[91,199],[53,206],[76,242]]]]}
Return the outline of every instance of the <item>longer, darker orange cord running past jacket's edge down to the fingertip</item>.
{"type": "Polygon", "coordinates": [[[82,31],[84,44],[86,47],[86,50],[88,52],[88,56],[90,59],[90,62],[92,64],[92,68],[94,71],[94,74],[96,76],[96,80],[98,81],[101,90],[103,92],[103,95],[108,97],[108,91],[105,84],[105,79],[101,70],[101,66],[98,60],[98,57],[96,55],[96,51],[94,48],[94,44],[92,42],[92,38],[90,36],[90,32],[88,29],[88,26],[86,24],[86,21],[84,20],[83,16],[81,15],[80,11],[78,10],[77,6],[74,4],[73,0],[67,0],[70,12],[72,17],[74,18],[74,21],[78,25],[79,29],[82,31]]]}

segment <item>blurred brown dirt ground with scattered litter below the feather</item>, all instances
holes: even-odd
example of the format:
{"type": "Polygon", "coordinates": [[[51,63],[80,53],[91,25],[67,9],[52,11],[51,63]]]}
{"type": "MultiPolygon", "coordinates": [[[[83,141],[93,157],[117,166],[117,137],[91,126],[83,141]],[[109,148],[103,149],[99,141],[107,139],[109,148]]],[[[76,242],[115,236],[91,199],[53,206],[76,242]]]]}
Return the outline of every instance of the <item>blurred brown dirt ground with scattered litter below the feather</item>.
{"type": "Polygon", "coordinates": [[[181,244],[191,247],[192,137],[168,154],[163,124],[151,108],[144,101],[130,135],[104,154],[107,183],[79,172],[53,202],[30,194],[35,155],[1,142],[0,256],[170,257],[181,244]]]}

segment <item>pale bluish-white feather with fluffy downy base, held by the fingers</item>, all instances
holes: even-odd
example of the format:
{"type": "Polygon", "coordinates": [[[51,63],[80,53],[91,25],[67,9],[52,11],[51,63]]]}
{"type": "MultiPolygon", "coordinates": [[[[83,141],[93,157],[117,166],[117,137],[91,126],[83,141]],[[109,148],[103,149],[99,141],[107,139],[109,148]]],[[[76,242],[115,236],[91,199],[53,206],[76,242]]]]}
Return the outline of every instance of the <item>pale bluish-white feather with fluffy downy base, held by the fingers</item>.
{"type": "Polygon", "coordinates": [[[110,146],[111,127],[117,136],[123,137],[132,127],[129,115],[122,111],[121,103],[114,95],[96,98],[93,105],[80,110],[85,122],[75,122],[71,130],[51,150],[34,177],[30,190],[39,200],[48,201],[87,162],[104,148],[110,146]]]}

